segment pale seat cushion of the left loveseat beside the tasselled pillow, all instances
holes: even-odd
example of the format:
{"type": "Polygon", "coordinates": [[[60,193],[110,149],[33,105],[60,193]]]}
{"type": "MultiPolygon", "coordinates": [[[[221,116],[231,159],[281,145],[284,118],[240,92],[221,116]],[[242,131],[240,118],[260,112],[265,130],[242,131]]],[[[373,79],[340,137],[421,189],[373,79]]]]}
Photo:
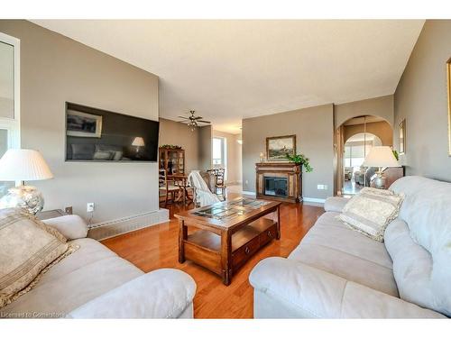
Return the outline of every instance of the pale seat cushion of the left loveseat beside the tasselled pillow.
{"type": "Polygon", "coordinates": [[[85,238],[69,243],[78,245],[78,251],[50,269],[30,292],[2,308],[3,316],[66,316],[91,299],[143,275],[141,269],[95,240],[85,238]]]}

